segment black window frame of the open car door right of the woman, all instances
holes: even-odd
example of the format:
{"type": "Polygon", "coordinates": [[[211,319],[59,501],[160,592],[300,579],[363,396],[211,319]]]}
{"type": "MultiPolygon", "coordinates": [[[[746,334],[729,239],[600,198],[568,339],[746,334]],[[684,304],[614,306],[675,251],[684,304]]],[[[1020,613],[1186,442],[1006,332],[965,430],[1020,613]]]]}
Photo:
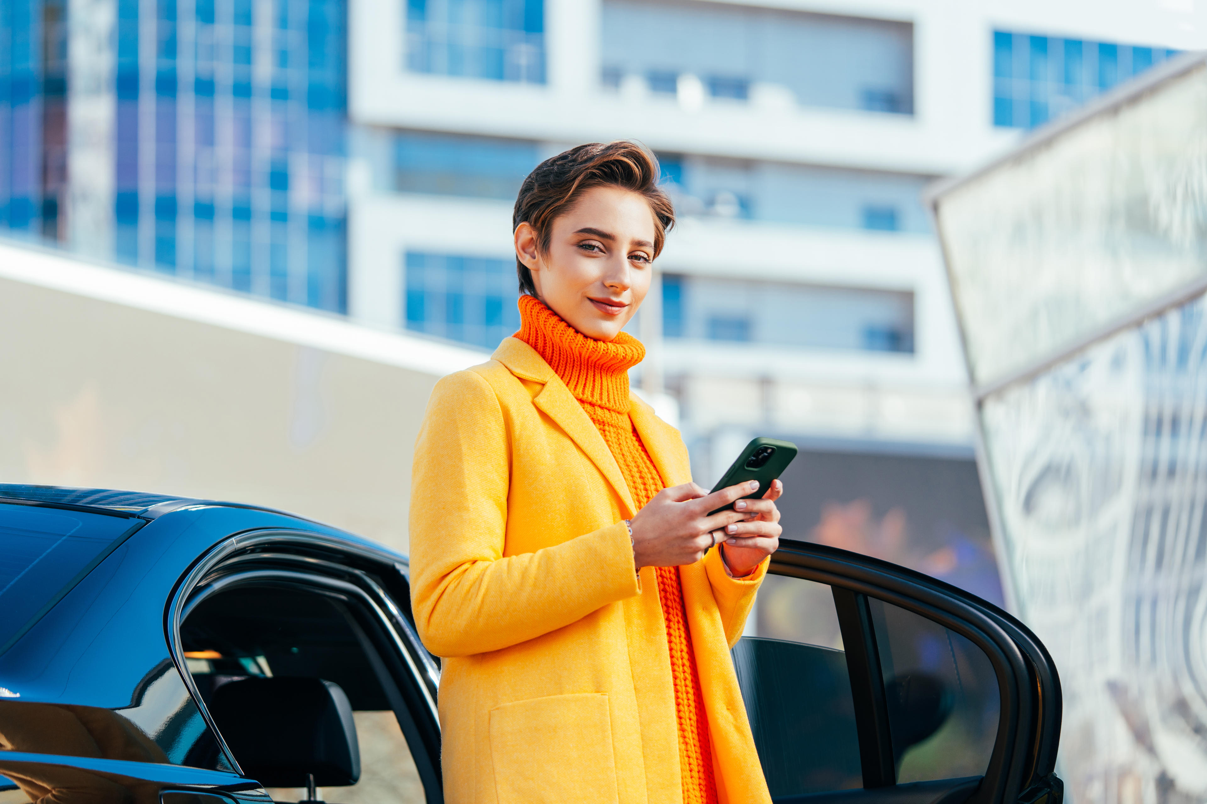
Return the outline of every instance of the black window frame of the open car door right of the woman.
{"type": "MultiPolygon", "coordinates": [[[[998,732],[984,779],[968,804],[1059,804],[1054,775],[1060,743],[1061,687],[1043,642],[993,604],[938,579],[859,553],[780,540],[769,574],[828,585],[846,652],[863,790],[897,786],[884,680],[868,598],[920,615],[985,652],[997,675],[998,732]]],[[[827,794],[817,794],[827,796],[827,794]]]]}

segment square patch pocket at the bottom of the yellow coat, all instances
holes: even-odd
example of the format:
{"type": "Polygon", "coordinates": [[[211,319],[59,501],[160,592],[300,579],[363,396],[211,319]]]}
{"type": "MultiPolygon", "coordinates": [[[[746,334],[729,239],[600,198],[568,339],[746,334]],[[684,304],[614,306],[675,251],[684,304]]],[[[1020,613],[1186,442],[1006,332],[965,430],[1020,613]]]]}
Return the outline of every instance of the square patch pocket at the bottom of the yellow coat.
{"type": "Polygon", "coordinates": [[[496,706],[490,710],[490,753],[498,804],[619,800],[605,693],[496,706]]]}

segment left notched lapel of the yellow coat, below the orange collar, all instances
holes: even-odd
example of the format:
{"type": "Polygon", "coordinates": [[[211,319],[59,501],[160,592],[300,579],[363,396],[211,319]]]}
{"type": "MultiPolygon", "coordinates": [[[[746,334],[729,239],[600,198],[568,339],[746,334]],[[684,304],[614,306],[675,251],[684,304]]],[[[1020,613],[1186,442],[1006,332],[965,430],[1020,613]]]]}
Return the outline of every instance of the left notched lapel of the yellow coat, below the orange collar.
{"type": "Polygon", "coordinates": [[[599,429],[587,416],[587,411],[578,404],[575,395],[570,393],[570,388],[561,381],[561,377],[536,350],[517,338],[505,338],[492,357],[506,365],[515,376],[544,383],[544,388],[532,399],[532,404],[552,418],[578,445],[578,448],[587,453],[587,457],[591,459],[595,468],[619,495],[625,509],[625,517],[632,517],[637,511],[632,504],[632,495],[629,493],[629,485],[624,482],[624,475],[620,474],[620,466],[612,457],[612,451],[607,448],[604,436],[600,435],[599,429]]]}

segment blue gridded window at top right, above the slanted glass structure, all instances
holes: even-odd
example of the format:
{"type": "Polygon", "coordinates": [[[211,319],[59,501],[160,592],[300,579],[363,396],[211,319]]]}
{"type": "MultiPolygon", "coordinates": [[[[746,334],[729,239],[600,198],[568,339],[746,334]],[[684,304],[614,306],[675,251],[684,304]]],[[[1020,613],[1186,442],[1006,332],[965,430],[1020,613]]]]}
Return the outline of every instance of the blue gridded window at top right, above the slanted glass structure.
{"type": "Polygon", "coordinates": [[[1040,125],[1176,53],[993,31],[993,125],[1040,125]]]}

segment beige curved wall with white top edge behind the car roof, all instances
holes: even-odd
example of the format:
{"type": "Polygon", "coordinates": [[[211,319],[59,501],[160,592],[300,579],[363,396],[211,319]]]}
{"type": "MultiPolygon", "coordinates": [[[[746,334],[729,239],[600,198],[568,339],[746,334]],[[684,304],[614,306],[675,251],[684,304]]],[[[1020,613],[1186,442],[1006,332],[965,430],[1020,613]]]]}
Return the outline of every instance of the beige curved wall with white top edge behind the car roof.
{"type": "Polygon", "coordinates": [[[484,353],[0,243],[0,482],[280,507],[407,550],[436,380],[484,353]]]}

